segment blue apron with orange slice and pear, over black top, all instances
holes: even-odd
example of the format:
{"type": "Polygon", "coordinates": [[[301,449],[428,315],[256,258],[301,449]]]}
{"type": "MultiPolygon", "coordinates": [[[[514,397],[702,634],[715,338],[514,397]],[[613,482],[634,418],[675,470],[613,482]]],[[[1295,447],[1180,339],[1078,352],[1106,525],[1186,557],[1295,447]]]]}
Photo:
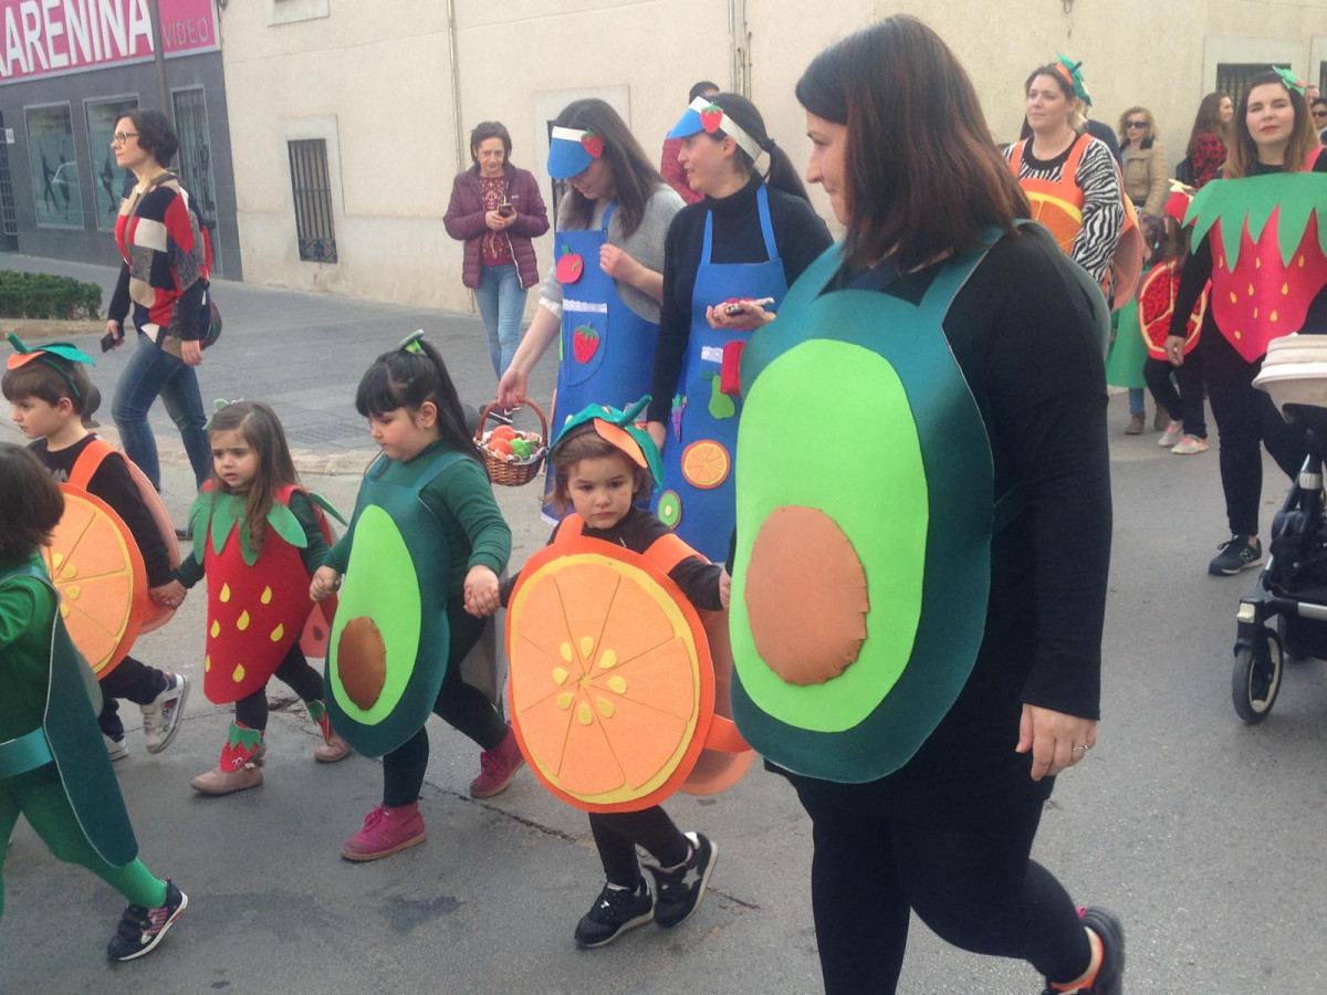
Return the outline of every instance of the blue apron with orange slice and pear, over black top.
{"type": "Polygon", "coordinates": [[[733,374],[751,332],[715,329],[706,308],[730,298],[774,297],[774,310],[788,292],[788,281],[774,244],[770,194],[756,194],[764,263],[711,263],[714,215],[705,219],[705,244],[691,292],[691,334],[682,360],[682,378],[664,443],[662,492],[654,511],[664,524],[702,556],[723,563],[736,520],[733,460],[736,452],[739,385],[733,374]]]}

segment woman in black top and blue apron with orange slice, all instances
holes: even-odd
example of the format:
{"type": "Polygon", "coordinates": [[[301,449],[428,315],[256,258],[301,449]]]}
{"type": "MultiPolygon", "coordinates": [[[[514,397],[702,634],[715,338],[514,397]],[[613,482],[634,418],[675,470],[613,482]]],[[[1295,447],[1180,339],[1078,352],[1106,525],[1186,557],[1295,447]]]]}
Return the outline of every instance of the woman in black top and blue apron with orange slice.
{"type": "Polygon", "coordinates": [[[698,97],[669,138],[682,139],[678,162],[705,199],[683,208],[667,233],[648,415],[664,452],[656,512],[722,561],[733,536],[738,360],[752,329],[772,320],[788,285],[832,239],[751,101],[698,97]]]}

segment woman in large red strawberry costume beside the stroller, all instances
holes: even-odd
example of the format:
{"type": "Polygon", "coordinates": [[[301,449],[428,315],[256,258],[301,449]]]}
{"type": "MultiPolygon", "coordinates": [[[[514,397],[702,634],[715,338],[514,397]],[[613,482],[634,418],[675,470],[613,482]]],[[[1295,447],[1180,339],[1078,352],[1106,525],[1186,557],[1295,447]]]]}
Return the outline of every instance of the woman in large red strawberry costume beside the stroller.
{"type": "Polygon", "coordinates": [[[1262,446],[1291,479],[1307,452],[1303,426],[1286,422],[1253,386],[1267,344],[1294,332],[1327,333],[1327,153],[1303,82],[1289,69],[1259,73],[1239,98],[1231,130],[1222,178],[1197,192],[1185,216],[1194,226],[1193,252],[1166,338],[1170,362],[1180,366],[1188,330],[1180,316],[1210,280],[1198,350],[1230,527],[1208,564],[1218,576],[1262,563],[1262,446]]]}

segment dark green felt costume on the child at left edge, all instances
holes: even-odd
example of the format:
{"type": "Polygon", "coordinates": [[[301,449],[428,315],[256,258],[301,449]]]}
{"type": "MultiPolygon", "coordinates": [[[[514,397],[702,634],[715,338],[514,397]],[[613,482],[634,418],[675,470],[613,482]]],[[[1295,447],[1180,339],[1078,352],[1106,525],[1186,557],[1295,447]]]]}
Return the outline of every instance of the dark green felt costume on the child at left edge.
{"type": "MultiPolygon", "coordinates": [[[[0,586],[19,577],[32,577],[54,590],[50,578],[36,565],[0,574],[0,586]]],[[[58,592],[56,598],[58,604],[58,592]]],[[[88,842],[111,866],[126,866],[138,856],[138,841],[97,727],[101,702],[94,703],[89,696],[89,687],[96,693],[96,683],[69,639],[58,610],[50,624],[49,673],[41,726],[0,743],[0,781],[53,760],[88,842]]]]}

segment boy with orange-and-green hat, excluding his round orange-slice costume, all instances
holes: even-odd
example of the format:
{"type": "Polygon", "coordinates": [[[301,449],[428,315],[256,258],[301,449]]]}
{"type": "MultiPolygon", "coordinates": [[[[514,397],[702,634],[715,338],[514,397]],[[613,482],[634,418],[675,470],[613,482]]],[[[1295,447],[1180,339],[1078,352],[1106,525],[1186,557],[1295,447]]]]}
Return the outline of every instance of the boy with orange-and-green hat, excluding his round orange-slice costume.
{"type": "MultiPolygon", "coordinates": [[[[92,397],[92,381],[84,367],[93,365],[92,357],[68,342],[31,349],[15,334],[9,342],[16,352],[8,358],[0,389],[13,405],[19,430],[35,440],[29,448],[57,483],[81,482],[88,494],[110,505],[143,556],[153,602],[158,608],[178,606],[166,593],[171,553],[134,482],[129,459],[84,427],[82,415],[92,397]]],[[[115,699],[127,699],[142,710],[147,752],[159,754],[179,731],[188,683],[183,674],[125,657],[101,675],[101,694],[104,704],[97,724],[110,759],[122,760],[129,756],[129,747],[115,699]]]]}

